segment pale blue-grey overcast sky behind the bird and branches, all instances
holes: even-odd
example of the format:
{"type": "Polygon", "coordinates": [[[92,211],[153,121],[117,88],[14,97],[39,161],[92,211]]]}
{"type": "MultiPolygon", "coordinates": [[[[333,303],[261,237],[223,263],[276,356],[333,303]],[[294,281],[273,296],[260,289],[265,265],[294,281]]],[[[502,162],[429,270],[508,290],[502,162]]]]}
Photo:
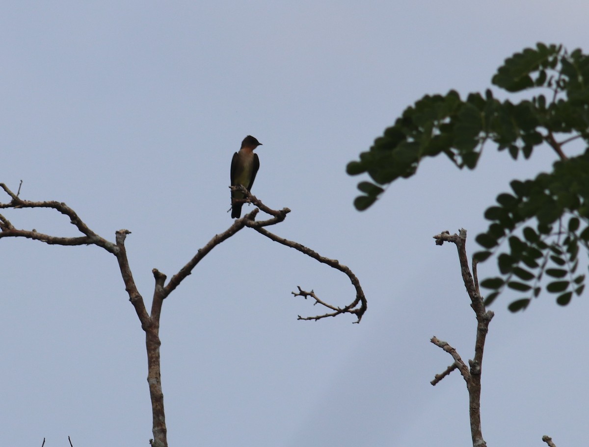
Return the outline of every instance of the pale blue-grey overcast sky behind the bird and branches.
{"type": "MultiPolygon", "coordinates": [[[[475,251],[495,196],[554,154],[514,162],[489,145],[474,172],[428,159],[363,213],[345,166],[416,99],[484,91],[525,46],[589,51],[588,16],[573,0],[4,2],[0,182],[66,202],[111,241],[130,229],[149,306],[152,268],[171,276],[231,225],[231,156],[255,136],[252,192],[292,209],[272,231],[348,265],[368,312],[297,321],[322,312],[297,285],[345,305],[349,279],[249,229],[215,248],[164,302],[170,445],[469,445],[464,380],[429,384],[452,363],[431,336],[466,360],[476,323],[455,247],[432,236],[464,227],[475,251]]],[[[78,235],[51,210],[2,214],[78,235]]],[[[2,444],[148,445],[144,333],[114,256],[22,239],[0,256],[2,444]]],[[[492,307],[484,438],[586,445],[587,292],[517,315],[514,298],[492,307]]]]}

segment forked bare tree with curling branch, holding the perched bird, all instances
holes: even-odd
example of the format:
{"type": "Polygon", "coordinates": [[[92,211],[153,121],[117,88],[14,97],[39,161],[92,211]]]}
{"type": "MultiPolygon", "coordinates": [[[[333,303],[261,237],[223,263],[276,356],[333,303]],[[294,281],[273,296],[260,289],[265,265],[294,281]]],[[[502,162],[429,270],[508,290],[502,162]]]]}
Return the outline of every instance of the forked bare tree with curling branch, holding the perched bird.
{"type": "Polygon", "coordinates": [[[135,312],[137,313],[137,316],[141,323],[141,329],[143,329],[143,331],[145,332],[145,347],[147,349],[148,363],[147,382],[150,390],[151,408],[153,413],[153,439],[150,440],[150,443],[153,447],[167,447],[168,445],[166,431],[166,415],[164,413],[164,395],[161,388],[160,375],[161,341],[159,331],[161,308],[164,299],[166,299],[168,295],[170,295],[170,293],[174,291],[174,289],[176,289],[177,286],[180,285],[180,283],[188,275],[190,275],[190,273],[196,267],[198,262],[200,262],[201,259],[204,258],[204,256],[206,256],[213,248],[215,248],[221,242],[225,241],[226,239],[229,239],[231,236],[233,236],[241,229],[245,227],[252,228],[261,235],[272,239],[272,241],[276,241],[281,243],[282,245],[294,248],[300,251],[301,253],[304,253],[305,255],[310,256],[313,259],[316,259],[319,262],[325,263],[330,267],[345,273],[352,282],[352,285],[356,289],[355,299],[353,299],[353,301],[349,305],[343,307],[330,305],[329,303],[317,297],[315,295],[315,292],[306,292],[299,287],[298,292],[292,292],[295,296],[303,296],[304,298],[307,298],[307,296],[311,296],[313,299],[315,299],[315,304],[319,304],[320,306],[323,306],[327,309],[327,312],[322,315],[306,317],[302,317],[299,315],[299,319],[319,320],[322,318],[326,318],[328,316],[336,316],[342,313],[351,313],[356,316],[356,323],[358,323],[362,319],[364,312],[366,312],[366,298],[364,296],[364,292],[362,291],[362,287],[360,286],[360,282],[358,281],[358,278],[356,278],[356,276],[353,274],[353,272],[347,266],[340,264],[335,259],[325,258],[319,255],[319,253],[301,245],[298,242],[289,241],[267,231],[264,227],[276,225],[277,223],[282,222],[286,218],[286,215],[290,212],[290,209],[283,208],[280,211],[270,209],[261,201],[259,201],[259,199],[257,199],[255,196],[251,195],[246,188],[243,188],[243,186],[231,186],[231,189],[242,192],[245,196],[245,199],[243,199],[243,201],[251,202],[252,204],[256,205],[257,208],[255,208],[249,214],[243,216],[243,218],[236,219],[231,224],[231,226],[229,226],[229,228],[227,228],[224,232],[213,236],[213,238],[209,242],[207,242],[202,248],[198,249],[196,254],[180,269],[180,271],[174,274],[169,281],[166,282],[167,276],[164,273],[154,268],[152,272],[155,280],[155,286],[153,291],[153,301],[151,303],[151,312],[149,313],[145,308],[143,296],[138,291],[137,286],[135,285],[133,273],[131,272],[131,268],[129,266],[129,262],[127,259],[127,250],[125,249],[125,238],[127,238],[127,235],[131,233],[130,231],[128,231],[127,229],[120,229],[115,232],[115,242],[108,241],[107,239],[102,238],[100,235],[92,231],[90,227],[84,221],[82,221],[82,219],[76,214],[76,212],[63,202],[27,201],[19,198],[19,193],[21,189],[20,186],[16,194],[14,194],[14,192],[12,192],[11,189],[9,189],[5,184],[0,184],[0,187],[4,189],[4,191],[6,192],[6,194],[8,194],[10,198],[9,202],[0,203],[0,209],[51,208],[70,218],[70,223],[74,225],[81,233],[81,236],[77,237],[61,237],[47,235],[38,232],[35,229],[19,229],[15,228],[15,226],[12,225],[12,223],[8,219],[6,219],[4,215],[0,214],[0,238],[28,238],[47,243],[49,245],[95,245],[102,249],[105,249],[107,252],[114,255],[117,259],[118,266],[121,271],[121,276],[125,283],[125,290],[127,291],[127,294],[129,296],[129,301],[131,301],[131,304],[133,305],[135,312]],[[256,221],[256,216],[260,210],[266,212],[271,217],[265,221],[256,221]]]}

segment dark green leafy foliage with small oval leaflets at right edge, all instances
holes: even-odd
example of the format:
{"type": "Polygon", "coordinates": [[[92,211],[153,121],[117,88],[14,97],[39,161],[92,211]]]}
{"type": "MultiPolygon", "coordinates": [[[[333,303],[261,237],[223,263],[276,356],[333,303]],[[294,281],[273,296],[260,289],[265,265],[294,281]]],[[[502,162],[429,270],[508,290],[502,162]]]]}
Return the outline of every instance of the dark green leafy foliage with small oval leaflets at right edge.
{"type": "Polygon", "coordinates": [[[509,305],[512,311],[527,307],[542,289],[567,305],[584,290],[578,254],[589,251],[589,148],[576,156],[564,152],[574,140],[589,144],[589,55],[538,43],[505,59],[492,84],[530,91],[531,98],[499,101],[489,89],[466,99],[455,91],[423,96],[348,164],[348,174],[367,172],[373,181],[359,183],[363,194],[354,205],[369,208],[382,186],[415,174],[426,156],[444,154],[458,168],[474,169],[488,141],[513,159],[528,159],[548,145],[558,158],[552,172],[515,179],[512,192],[497,196],[485,211],[489,227],[476,238],[483,250],[475,256],[484,261],[497,255],[501,273],[481,282],[490,291],[485,303],[508,288],[521,293],[509,305]]]}

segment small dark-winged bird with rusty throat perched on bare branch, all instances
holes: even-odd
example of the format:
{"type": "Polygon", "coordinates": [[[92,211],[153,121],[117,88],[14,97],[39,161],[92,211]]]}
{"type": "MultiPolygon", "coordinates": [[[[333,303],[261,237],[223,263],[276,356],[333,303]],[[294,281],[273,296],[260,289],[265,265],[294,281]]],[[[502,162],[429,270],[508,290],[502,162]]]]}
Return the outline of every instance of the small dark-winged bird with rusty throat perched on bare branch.
{"type": "MultiPolygon", "coordinates": [[[[257,154],[254,154],[254,149],[261,146],[262,143],[257,141],[252,135],[247,135],[241,142],[241,149],[239,152],[233,154],[231,160],[231,186],[242,185],[247,188],[247,191],[252,189],[254,179],[256,179],[257,170],[260,168],[260,160],[257,154]]],[[[244,199],[243,192],[231,191],[231,218],[239,218],[241,216],[241,206],[243,203],[237,204],[235,199],[244,199]]]]}

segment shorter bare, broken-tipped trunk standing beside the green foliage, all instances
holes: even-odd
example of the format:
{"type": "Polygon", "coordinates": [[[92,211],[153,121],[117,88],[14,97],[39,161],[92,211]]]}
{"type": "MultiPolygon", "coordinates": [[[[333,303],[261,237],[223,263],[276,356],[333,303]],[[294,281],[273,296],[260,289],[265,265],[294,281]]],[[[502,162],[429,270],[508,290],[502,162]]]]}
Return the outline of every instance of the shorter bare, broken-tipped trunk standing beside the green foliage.
{"type": "MultiPolygon", "coordinates": [[[[466,363],[462,360],[459,353],[456,349],[452,348],[449,343],[442,341],[435,336],[432,337],[431,342],[448,352],[454,359],[454,363],[448,366],[443,372],[436,374],[434,380],[430,383],[435,386],[455,369],[460,371],[462,378],[466,382],[466,389],[468,389],[472,446],[487,447],[487,443],[482,437],[481,429],[481,374],[485,339],[487,338],[489,323],[491,322],[494,313],[492,311],[487,311],[484,299],[479,292],[477,261],[474,259],[472,261],[472,272],[468,266],[468,256],[466,256],[466,230],[461,228],[458,234],[454,233],[453,235],[451,235],[449,231],[442,231],[438,235],[435,235],[434,239],[436,239],[436,245],[442,245],[444,242],[452,242],[456,244],[462,281],[464,281],[466,292],[471,299],[471,308],[477,316],[477,339],[475,341],[474,358],[469,360],[468,366],[466,366],[466,363]]],[[[547,443],[549,447],[556,447],[552,442],[552,438],[548,436],[542,436],[542,441],[547,443]]]]}

